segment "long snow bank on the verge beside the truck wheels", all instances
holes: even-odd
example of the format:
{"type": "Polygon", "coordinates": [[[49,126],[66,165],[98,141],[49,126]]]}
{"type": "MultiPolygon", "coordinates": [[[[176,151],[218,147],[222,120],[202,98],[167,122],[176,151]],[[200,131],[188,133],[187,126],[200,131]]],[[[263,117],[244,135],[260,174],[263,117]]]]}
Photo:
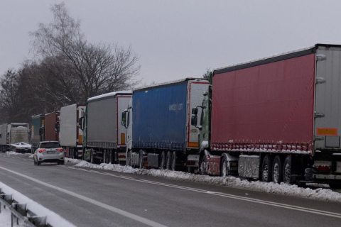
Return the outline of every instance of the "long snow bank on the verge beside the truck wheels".
{"type": "Polygon", "coordinates": [[[115,172],[124,172],[139,175],[151,175],[154,177],[165,177],[168,179],[178,179],[188,182],[197,182],[202,184],[215,184],[226,187],[237,187],[241,189],[249,189],[257,192],[267,192],[272,194],[281,194],[286,196],[300,196],[310,199],[318,199],[324,201],[341,202],[341,193],[333,192],[330,189],[310,189],[302,188],[297,185],[288,184],[275,184],[273,182],[259,182],[245,179],[239,179],[237,177],[210,177],[207,175],[195,175],[187,172],[178,172],[171,170],[146,170],[146,169],[134,169],[133,167],[112,165],[112,164],[92,164],[82,160],[72,160],[65,158],[66,163],[75,164],[76,167],[87,167],[99,170],[112,170],[115,172]]]}

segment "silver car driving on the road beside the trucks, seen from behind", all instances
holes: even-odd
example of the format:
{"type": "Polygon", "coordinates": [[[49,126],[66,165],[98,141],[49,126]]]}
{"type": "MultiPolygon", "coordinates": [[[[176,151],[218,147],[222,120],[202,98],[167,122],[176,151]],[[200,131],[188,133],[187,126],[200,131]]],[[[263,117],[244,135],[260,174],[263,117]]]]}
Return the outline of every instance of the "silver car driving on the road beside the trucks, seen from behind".
{"type": "Polygon", "coordinates": [[[43,162],[57,162],[58,165],[64,165],[64,149],[58,141],[43,141],[38,145],[34,152],[34,165],[40,165],[43,162]]]}

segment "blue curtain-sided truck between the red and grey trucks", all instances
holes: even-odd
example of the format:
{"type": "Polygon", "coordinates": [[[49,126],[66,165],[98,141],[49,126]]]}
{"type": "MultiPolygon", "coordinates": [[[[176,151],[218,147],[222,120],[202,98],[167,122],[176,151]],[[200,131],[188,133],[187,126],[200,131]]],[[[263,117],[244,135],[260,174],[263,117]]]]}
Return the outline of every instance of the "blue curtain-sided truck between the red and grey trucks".
{"type": "Polygon", "coordinates": [[[127,165],[197,169],[199,130],[190,125],[190,110],[200,106],[208,84],[187,78],[135,89],[122,114],[128,128],[127,165]]]}

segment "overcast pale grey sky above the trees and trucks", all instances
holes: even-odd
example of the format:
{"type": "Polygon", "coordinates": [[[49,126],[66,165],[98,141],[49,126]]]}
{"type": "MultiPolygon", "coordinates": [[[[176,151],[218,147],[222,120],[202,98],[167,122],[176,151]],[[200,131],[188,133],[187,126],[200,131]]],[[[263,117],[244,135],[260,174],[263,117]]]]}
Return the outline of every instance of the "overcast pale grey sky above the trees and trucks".
{"type": "MultiPolygon", "coordinates": [[[[53,0],[0,0],[0,73],[30,59],[38,23],[53,0]]],[[[144,82],[201,77],[214,69],[315,43],[341,44],[341,1],[65,0],[91,42],[140,56],[144,82]]]]}

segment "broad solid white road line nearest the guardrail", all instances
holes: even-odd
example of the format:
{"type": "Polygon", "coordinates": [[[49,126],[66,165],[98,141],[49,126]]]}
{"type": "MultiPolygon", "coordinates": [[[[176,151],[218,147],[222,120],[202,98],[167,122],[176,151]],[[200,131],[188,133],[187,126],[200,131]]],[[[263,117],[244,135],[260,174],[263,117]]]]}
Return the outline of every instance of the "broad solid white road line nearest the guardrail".
{"type": "Polygon", "coordinates": [[[103,204],[103,203],[101,203],[101,202],[99,202],[99,201],[96,201],[96,200],[94,200],[94,199],[90,199],[90,198],[88,198],[88,197],[86,197],[86,196],[82,196],[82,195],[77,194],[77,193],[75,193],[75,192],[68,191],[68,190],[63,189],[63,188],[61,188],[61,187],[57,187],[57,186],[54,186],[54,185],[52,185],[52,184],[48,184],[48,183],[42,182],[42,181],[40,181],[40,180],[38,180],[38,179],[35,179],[35,178],[33,178],[33,177],[28,177],[28,176],[26,176],[26,175],[22,175],[22,174],[19,173],[19,172],[15,172],[15,171],[13,171],[13,170],[9,170],[9,169],[6,169],[6,168],[4,168],[4,167],[0,167],[0,169],[6,170],[6,171],[8,171],[8,172],[11,172],[11,173],[13,173],[13,174],[15,174],[15,175],[18,175],[18,176],[21,176],[21,177],[24,177],[24,178],[26,178],[26,179],[30,179],[30,180],[33,181],[33,182],[37,182],[38,184],[42,184],[42,185],[44,185],[44,186],[46,186],[46,187],[50,187],[50,188],[55,189],[55,190],[58,190],[58,191],[60,191],[60,192],[64,192],[64,193],[66,193],[66,194],[70,194],[71,196],[75,196],[75,197],[77,197],[78,199],[82,199],[82,200],[84,200],[84,201],[90,202],[91,204],[100,206],[100,207],[102,207],[102,208],[104,208],[104,209],[107,209],[107,210],[109,210],[109,211],[113,211],[114,213],[121,214],[122,216],[126,216],[127,218],[131,218],[131,219],[133,219],[133,220],[135,220],[135,221],[139,221],[139,222],[141,222],[141,223],[144,223],[144,224],[146,224],[147,226],[166,227],[166,226],[162,225],[161,223],[157,223],[157,222],[155,222],[155,221],[148,220],[147,218],[143,218],[143,217],[141,217],[141,216],[137,216],[137,215],[135,215],[135,214],[131,214],[131,213],[127,212],[127,211],[123,211],[123,210],[118,209],[118,208],[116,208],[116,207],[114,207],[114,206],[109,206],[109,205],[107,205],[107,204],[103,204]]]}

